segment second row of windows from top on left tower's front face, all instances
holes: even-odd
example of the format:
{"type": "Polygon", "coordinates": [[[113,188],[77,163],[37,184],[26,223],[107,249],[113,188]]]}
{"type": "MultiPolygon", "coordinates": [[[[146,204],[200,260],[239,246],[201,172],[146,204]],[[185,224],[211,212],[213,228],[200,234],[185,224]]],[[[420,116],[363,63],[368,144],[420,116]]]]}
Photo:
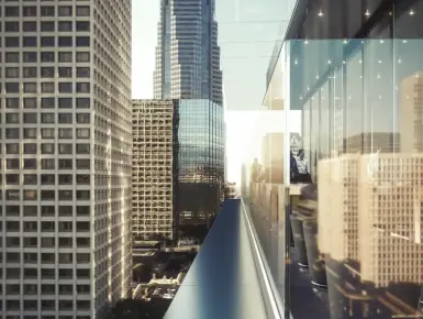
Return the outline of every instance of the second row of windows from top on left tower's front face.
{"type": "MultiPolygon", "coordinates": [[[[40,31],[41,32],[55,32],[57,23],[58,32],[89,32],[90,22],[89,21],[41,21],[40,31]],[[74,28],[75,25],[75,28],[74,28]]],[[[1,24],[0,24],[1,31],[1,24]]],[[[5,21],[4,22],[4,32],[38,32],[38,23],[36,21],[5,21]],[[21,28],[22,25],[22,28],[21,28]]]]}

